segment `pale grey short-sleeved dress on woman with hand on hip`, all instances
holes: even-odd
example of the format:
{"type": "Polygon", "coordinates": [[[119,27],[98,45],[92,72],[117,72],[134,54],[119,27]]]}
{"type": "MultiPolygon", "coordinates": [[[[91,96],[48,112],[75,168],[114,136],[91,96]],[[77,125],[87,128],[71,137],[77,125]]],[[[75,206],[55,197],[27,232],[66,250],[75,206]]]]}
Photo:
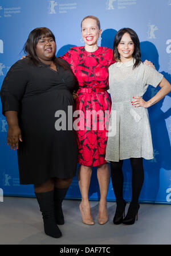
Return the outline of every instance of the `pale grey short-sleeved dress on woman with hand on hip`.
{"type": "Polygon", "coordinates": [[[109,92],[112,109],[105,159],[119,162],[128,158],[153,158],[148,110],[132,105],[133,97],[143,97],[148,85],[157,87],[163,75],[134,60],[116,62],[109,67],[109,92]]]}

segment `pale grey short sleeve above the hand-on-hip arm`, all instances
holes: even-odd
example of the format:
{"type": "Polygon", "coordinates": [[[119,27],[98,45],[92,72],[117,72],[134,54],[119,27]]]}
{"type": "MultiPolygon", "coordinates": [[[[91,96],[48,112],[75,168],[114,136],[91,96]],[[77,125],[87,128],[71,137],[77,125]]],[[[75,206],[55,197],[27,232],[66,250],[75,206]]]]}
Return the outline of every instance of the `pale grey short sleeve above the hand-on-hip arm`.
{"type": "Polygon", "coordinates": [[[164,76],[153,67],[147,65],[145,65],[144,67],[146,85],[152,85],[153,87],[157,87],[157,85],[161,82],[164,76]]]}

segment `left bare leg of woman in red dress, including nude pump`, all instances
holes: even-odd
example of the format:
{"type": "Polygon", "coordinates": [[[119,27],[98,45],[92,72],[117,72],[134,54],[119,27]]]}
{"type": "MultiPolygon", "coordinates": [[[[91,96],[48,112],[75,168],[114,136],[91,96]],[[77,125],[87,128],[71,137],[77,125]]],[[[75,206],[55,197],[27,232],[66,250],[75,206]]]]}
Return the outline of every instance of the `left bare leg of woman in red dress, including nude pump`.
{"type": "Polygon", "coordinates": [[[91,209],[88,201],[88,190],[91,181],[92,169],[89,166],[81,165],[78,171],[78,181],[80,193],[82,194],[82,202],[80,203],[80,211],[82,214],[83,223],[87,225],[95,224],[91,215],[91,209]]]}

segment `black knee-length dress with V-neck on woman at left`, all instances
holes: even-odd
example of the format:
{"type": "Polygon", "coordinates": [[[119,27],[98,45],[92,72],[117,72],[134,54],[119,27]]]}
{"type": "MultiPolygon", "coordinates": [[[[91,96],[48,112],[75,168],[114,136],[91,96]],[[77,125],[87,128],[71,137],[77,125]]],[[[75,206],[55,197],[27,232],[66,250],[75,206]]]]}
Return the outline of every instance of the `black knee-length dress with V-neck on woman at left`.
{"type": "Polygon", "coordinates": [[[39,184],[76,174],[78,145],[72,129],[75,78],[71,70],[56,67],[57,72],[43,63],[37,67],[25,58],[11,67],[3,81],[2,113],[18,111],[22,131],[23,142],[19,142],[18,148],[21,184],[39,184]],[[63,122],[58,122],[62,116],[63,122]],[[68,116],[70,123],[65,125],[68,116]],[[56,130],[59,125],[62,130],[56,130]]]}

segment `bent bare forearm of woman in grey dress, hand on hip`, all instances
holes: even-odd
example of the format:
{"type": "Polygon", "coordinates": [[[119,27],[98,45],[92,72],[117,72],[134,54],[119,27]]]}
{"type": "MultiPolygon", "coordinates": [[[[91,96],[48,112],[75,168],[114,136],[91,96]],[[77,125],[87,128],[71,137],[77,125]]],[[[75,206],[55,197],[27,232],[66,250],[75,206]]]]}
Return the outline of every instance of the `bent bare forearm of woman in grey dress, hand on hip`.
{"type": "Polygon", "coordinates": [[[149,99],[149,101],[147,101],[149,107],[154,105],[155,103],[157,103],[158,101],[160,101],[162,98],[165,97],[165,95],[167,95],[168,93],[170,93],[171,91],[171,85],[168,81],[166,81],[164,79],[164,81],[161,82],[161,89],[160,91],[158,91],[158,93],[152,97],[151,99],[149,99]]]}

